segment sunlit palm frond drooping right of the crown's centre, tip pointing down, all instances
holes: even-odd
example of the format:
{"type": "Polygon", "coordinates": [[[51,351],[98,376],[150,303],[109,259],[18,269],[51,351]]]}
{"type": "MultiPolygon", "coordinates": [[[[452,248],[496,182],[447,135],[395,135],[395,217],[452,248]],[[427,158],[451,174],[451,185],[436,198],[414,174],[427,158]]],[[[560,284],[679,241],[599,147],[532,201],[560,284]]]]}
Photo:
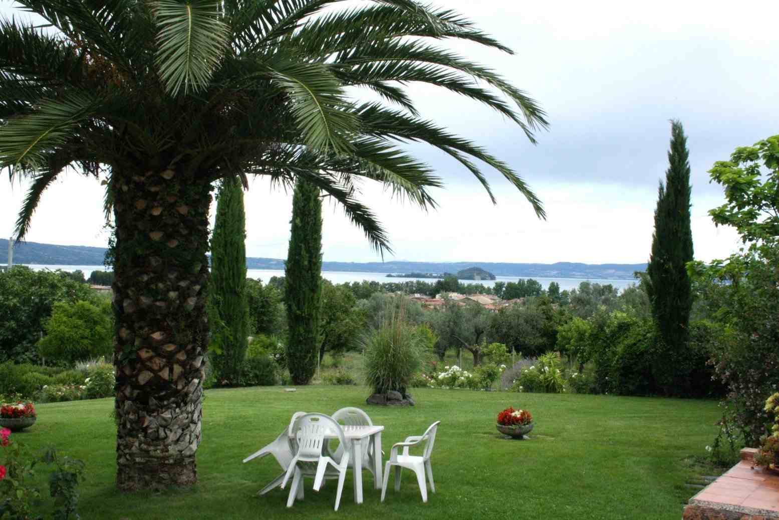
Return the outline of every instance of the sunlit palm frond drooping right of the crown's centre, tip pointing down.
{"type": "Polygon", "coordinates": [[[356,120],[344,89],[333,73],[319,63],[278,61],[270,76],[287,93],[291,112],[305,143],[315,150],[351,150],[356,120]]]}

